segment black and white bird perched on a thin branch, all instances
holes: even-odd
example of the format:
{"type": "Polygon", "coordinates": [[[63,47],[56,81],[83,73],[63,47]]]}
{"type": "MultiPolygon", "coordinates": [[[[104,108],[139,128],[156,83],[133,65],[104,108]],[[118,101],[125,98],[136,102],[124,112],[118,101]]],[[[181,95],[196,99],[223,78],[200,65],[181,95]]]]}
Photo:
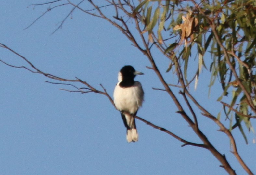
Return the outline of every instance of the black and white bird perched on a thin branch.
{"type": "Polygon", "coordinates": [[[144,92],[139,81],[134,81],[136,75],[143,73],[135,71],[132,66],[124,66],[118,73],[118,83],[114,90],[114,104],[121,112],[124,126],[127,128],[128,142],[138,141],[135,118],[142,106],[144,92]]]}

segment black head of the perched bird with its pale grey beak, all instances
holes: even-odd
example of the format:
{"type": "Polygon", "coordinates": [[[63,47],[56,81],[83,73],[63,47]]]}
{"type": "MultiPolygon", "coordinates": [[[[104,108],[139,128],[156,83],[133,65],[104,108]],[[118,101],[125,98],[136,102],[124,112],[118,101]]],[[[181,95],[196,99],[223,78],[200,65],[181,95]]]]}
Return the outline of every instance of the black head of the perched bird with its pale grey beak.
{"type": "Polygon", "coordinates": [[[122,75],[122,81],[120,82],[121,87],[131,87],[134,85],[134,78],[136,75],[143,75],[143,73],[135,71],[135,69],[130,66],[124,66],[120,70],[120,73],[122,75]]]}

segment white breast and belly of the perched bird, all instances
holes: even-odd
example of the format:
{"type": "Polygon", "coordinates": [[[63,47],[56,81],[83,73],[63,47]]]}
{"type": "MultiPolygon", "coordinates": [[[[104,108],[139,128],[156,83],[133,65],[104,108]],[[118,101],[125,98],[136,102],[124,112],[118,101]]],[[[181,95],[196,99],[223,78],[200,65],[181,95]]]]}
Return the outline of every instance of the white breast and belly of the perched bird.
{"type": "Polygon", "coordinates": [[[144,92],[141,84],[134,81],[132,87],[120,87],[117,83],[114,90],[114,103],[118,110],[134,114],[142,106],[144,92]]]}

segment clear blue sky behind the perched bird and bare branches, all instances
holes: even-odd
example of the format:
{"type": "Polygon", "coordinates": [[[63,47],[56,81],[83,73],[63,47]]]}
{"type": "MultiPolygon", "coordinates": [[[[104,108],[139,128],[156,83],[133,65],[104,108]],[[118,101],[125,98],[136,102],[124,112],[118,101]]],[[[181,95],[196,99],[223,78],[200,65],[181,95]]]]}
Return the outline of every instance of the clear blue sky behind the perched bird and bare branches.
{"type": "MultiPolygon", "coordinates": [[[[47,8],[28,7],[32,3],[39,1],[1,1],[1,43],[44,72],[67,79],[78,77],[100,90],[101,83],[111,95],[118,71],[123,65],[132,65],[145,74],[136,77],[145,91],[145,102],[137,115],[188,141],[201,143],[175,113],[177,109],[170,97],[152,90],[162,88],[160,81],[146,68],[150,66],[147,58],[119,30],[77,10],[61,30],[51,35],[71,7],[53,10],[24,30],[47,8]]],[[[0,59],[26,65],[2,48],[0,59]]],[[[157,53],[155,59],[166,80],[175,84],[175,75],[165,73],[169,60],[157,53]]],[[[214,86],[208,99],[210,73],[203,73],[197,90],[191,87],[191,92],[217,115],[221,105],[216,99],[221,89],[214,86]]],[[[139,141],[127,143],[121,116],[103,95],[62,91],[61,88],[70,87],[46,83],[51,80],[2,63],[0,74],[0,174],[226,174],[209,151],[181,147],[181,142],[138,120],[139,141]]],[[[225,153],[237,174],[245,174],[230,153],[227,136],[218,132],[211,120],[198,116],[200,129],[211,143],[225,153]]],[[[224,121],[225,117],[221,119],[224,121]]],[[[229,126],[228,121],[224,123],[229,126]]],[[[249,142],[246,145],[237,129],[232,133],[239,153],[255,173],[255,135],[248,134],[245,128],[249,142]]]]}

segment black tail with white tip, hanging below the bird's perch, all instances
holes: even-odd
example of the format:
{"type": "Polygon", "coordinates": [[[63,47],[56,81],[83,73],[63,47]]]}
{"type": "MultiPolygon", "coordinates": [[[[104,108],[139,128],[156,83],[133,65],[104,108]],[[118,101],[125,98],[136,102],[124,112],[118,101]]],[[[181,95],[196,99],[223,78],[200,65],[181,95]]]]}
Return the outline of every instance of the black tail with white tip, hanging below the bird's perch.
{"type": "Polygon", "coordinates": [[[134,115],[121,113],[121,116],[123,119],[124,126],[127,128],[127,131],[126,131],[127,142],[137,142],[139,138],[139,134],[136,129],[134,115]]]}

